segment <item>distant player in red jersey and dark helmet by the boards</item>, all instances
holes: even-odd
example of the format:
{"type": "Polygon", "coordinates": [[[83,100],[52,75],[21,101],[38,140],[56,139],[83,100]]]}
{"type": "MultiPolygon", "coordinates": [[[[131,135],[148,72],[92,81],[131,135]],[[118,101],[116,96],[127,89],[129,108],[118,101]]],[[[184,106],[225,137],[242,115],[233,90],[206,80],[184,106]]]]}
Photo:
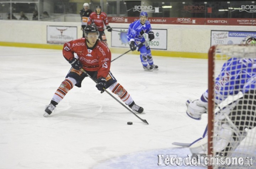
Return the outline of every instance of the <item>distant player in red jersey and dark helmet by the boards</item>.
{"type": "Polygon", "coordinates": [[[100,40],[103,41],[106,45],[108,45],[107,38],[104,33],[104,24],[108,32],[111,32],[112,28],[108,25],[107,14],[105,12],[101,12],[100,5],[97,5],[95,9],[96,12],[92,12],[89,16],[88,24],[94,23],[97,26],[98,31],[100,32],[100,40]]]}

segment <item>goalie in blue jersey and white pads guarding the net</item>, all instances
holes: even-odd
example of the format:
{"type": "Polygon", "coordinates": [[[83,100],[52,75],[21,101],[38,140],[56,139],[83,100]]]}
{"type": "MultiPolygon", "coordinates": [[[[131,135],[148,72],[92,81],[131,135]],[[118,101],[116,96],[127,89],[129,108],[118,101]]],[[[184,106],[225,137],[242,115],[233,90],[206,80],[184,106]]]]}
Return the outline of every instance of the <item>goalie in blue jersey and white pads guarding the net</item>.
{"type": "MultiPolygon", "coordinates": [[[[242,43],[255,45],[256,38],[247,37],[242,43]]],[[[215,110],[214,152],[219,157],[230,157],[248,130],[256,126],[256,54],[252,58],[227,60],[215,80],[214,92],[215,104],[222,104],[222,108],[215,110]],[[229,103],[225,100],[229,96],[236,96],[236,99],[229,103]]],[[[187,100],[186,105],[187,115],[200,120],[201,115],[208,111],[208,90],[200,99],[187,100]]],[[[206,127],[203,137],[191,143],[190,151],[194,156],[208,154],[207,131],[206,127]]]]}

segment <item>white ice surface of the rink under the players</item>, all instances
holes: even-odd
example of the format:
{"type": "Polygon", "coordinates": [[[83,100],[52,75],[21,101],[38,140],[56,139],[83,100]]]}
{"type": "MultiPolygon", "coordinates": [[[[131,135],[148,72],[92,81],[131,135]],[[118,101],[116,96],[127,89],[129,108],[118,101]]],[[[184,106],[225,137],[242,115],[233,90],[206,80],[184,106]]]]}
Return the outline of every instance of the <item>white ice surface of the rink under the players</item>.
{"type": "Polygon", "coordinates": [[[159,70],[153,72],[143,70],[139,55],[111,65],[149,125],[101,94],[90,78],[44,118],[45,105],[70,69],[62,50],[0,47],[0,168],[154,169],[165,168],[157,154],[186,157],[188,148],[171,143],[203,134],[207,115],[189,118],[185,102],[206,90],[207,60],[154,56],[154,62],[159,70]]]}

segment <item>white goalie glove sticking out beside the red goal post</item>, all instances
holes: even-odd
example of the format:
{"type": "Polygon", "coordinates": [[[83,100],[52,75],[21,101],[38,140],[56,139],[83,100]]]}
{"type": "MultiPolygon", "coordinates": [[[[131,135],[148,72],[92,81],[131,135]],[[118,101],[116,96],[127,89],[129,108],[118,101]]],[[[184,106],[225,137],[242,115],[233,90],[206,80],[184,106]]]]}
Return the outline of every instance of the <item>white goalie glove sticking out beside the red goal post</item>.
{"type": "Polygon", "coordinates": [[[202,100],[187,100],[187,115],[190,116],[192,119],[201,120],[201,116],[203,113],[207,112],[208,103],[203,102],[202,100]]]}

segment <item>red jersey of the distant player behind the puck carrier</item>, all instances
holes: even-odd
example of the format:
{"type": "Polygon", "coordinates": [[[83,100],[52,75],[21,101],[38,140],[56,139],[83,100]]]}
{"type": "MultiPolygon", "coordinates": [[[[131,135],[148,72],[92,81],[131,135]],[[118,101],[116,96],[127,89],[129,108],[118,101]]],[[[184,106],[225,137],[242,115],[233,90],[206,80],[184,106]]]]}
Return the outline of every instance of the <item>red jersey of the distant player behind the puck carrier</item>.
{"type": "Polygon", "coordinates": [[[99,31],[104,30],[105,26],[108,26],[108,18],[105,12],[101,12],[99,15],[96,12],[92,12],[89,16],[88,24],[95,23],[99,31]]]}

